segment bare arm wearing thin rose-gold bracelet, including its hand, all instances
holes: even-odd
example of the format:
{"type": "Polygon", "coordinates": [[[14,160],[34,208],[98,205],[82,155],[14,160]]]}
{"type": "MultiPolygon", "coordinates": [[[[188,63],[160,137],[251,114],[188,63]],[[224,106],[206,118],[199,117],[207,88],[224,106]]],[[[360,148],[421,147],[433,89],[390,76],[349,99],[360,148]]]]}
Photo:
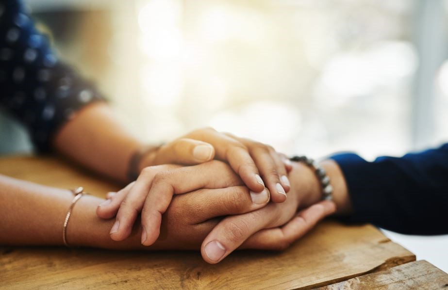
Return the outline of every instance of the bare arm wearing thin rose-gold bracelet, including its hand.
{"type": "MultiPolygon", "coordinates": [[[[228,182],[228,188],[201,189],[176,196],[165,213],[161,239],[150,247],[141,245],[139,222],[128,239],[113,241],[109,232],[115,219],[101,219],[96,214],[105,200],[84,195],[72,210],[67,242],[72,246],[109,249],[199,249],[216,226],[216,217],[264,206],[251,200],[249,190],[239,186],[239,179],[229,178],[228,182]]],[[[129,187],[122,191],[126,190],[129,187]]],[[[117,193],[120,194],[121,191],[117,193]]],[[[0,245],[63,245],[63,224],[72,200],[73,194],[68,190],[0,175],[0,245]]]]}

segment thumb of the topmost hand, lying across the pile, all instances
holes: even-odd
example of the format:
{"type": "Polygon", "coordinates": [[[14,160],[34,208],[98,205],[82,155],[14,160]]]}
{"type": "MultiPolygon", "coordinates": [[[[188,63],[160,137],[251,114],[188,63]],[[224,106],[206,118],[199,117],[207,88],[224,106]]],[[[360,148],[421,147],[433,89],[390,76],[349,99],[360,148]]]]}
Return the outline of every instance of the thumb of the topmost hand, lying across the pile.
{"type": "Polygon", "coordinates": [[[193,165],[214,158],[215,148],[209,143],[181,138],[160,147],[154,165],[166,163],[193,165]]]}

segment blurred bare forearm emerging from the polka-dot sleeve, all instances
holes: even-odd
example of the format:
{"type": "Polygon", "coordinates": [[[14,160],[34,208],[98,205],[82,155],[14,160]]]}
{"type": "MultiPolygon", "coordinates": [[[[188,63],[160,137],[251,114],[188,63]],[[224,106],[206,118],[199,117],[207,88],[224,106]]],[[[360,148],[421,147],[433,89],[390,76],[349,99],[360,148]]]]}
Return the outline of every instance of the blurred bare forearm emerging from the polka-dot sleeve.
{"type": "Polygon", "coordinates": [[[53,144],[67,157],[120,181],[127,181],[131,156],[142,146],[102,102],[79,111],[57,133],[53,144]]]}

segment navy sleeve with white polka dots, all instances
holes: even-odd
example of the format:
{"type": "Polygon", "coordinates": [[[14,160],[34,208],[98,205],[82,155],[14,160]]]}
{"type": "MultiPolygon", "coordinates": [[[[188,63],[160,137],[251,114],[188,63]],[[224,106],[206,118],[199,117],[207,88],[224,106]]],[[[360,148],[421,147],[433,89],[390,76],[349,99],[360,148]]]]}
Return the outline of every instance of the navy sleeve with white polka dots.
{"type": "Polygon", "coordinates": [[[85,105],[103,100],[96,88],[57,59],[18,0],[0,1],[0,106],[48,151],[57,130],[85,105]]]}

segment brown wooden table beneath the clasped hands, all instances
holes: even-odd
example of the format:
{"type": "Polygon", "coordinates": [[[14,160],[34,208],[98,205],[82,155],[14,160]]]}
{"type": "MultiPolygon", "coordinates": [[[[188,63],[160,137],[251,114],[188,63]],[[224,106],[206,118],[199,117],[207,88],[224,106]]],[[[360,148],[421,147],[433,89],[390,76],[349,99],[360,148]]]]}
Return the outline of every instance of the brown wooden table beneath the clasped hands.
{"type": "MultiPolygon", "coordinates": [[[[103,196],[117,187],[52,158],[0,159],[0,174],[103,196]]],[[[0,233],[1,234],[1,233],[0,233]]],[[[325,221],[288,250],[237,251],[217,265],[199,252],[0,247],[1,289],[383,289],[448,287],[448,274],[371,225],[325,221]],[[394,284],[395,283],[395,284],[394,284]]]]}

